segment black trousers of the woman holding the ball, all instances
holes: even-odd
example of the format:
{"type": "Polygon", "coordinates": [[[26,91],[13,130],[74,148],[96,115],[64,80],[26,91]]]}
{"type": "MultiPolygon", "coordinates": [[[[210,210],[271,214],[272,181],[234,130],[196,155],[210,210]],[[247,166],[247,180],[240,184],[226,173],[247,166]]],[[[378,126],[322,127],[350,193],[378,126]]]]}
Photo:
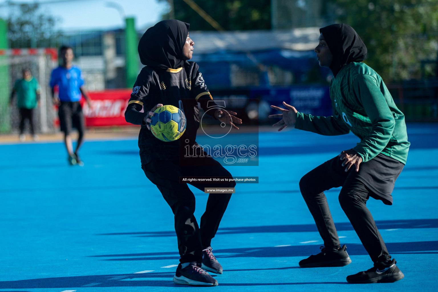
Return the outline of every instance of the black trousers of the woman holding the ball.
{"type": "MultiPolygon", "coordinates": [[[[175,231],[178,238],[180,262],[201,263],[202,250],[210,246],[219,223],[228,206],[231,193],[211,193],[207,207],[201,216],[201,227],[194,218],[195,197],[187,183],[180,183],[180,176],[227,176],[231,177],[219,162],[212,157],[190,158],[190,163],[180,166],[179,161],[152,161],[141,168],[154,183],[172,208],[175,215],[175,231]]],[[[205,187],[234,187],[236,183],[190,183],[204,192],[205,187]]]]}

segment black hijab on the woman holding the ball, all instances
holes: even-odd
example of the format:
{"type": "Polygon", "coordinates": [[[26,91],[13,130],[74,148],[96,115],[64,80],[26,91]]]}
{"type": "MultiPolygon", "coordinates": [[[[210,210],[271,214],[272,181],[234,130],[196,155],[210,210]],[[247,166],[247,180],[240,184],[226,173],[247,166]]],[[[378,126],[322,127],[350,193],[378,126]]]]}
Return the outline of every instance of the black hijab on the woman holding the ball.
{"type": "Polygon", "coordinates": [[[141,63],[161,69],[183,67],[183,47],[189,26],[188,23],[169,19],[148,28],[138,43],[141,63]]]}

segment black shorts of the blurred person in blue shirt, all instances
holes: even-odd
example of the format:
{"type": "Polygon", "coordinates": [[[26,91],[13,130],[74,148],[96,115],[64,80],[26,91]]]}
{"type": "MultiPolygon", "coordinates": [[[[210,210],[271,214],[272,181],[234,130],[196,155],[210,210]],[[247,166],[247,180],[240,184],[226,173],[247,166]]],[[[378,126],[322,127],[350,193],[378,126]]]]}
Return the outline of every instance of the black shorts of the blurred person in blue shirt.
{"type": "Polygon", "coordinates": [[[65,135],[69,135],[72,128],[78,129],[79,135],[84,133],[85,121],[80,102],[60,102],[58,116],[65,135]]]}

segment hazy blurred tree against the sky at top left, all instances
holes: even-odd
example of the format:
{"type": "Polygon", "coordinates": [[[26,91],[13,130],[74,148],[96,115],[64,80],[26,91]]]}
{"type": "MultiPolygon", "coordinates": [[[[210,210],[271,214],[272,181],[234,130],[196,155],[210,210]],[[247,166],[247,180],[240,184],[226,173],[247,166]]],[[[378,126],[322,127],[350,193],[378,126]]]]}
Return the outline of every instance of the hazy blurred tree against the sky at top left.
{"type": "Polygon", "coordinates": [[[57,18],[42,13],[39,4],[9,3],[8,39],[11,48],[55,46],[62,35],[57,30],[57,18]]]}

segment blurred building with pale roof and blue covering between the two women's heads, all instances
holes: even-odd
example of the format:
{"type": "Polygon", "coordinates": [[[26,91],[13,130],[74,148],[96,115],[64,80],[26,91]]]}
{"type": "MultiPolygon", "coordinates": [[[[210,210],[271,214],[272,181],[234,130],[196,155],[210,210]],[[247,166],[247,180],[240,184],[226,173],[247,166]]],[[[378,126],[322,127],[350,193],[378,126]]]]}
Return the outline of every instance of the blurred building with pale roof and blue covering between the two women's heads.
{"type": "Polygon", "coordinates": [[[326,83],[331,74],[315,57],[318,28],[282,31],[191,32],[192,61],[209,88],[326,83]]]}

